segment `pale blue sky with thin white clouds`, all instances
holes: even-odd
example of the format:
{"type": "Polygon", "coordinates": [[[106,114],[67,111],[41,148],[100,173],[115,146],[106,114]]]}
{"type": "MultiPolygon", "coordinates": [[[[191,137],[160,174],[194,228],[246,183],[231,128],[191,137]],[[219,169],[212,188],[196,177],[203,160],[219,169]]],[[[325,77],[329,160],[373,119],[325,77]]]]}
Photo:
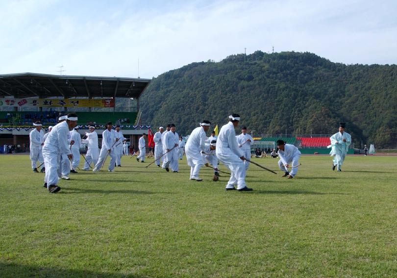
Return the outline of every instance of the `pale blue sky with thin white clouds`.
{"type": "Polygon", "coordinates": [[[0,0],[0,74],[63,66],[63,75],[152,78],[273,47],[397,64],[396,10],[395,0],[0,0]]]}

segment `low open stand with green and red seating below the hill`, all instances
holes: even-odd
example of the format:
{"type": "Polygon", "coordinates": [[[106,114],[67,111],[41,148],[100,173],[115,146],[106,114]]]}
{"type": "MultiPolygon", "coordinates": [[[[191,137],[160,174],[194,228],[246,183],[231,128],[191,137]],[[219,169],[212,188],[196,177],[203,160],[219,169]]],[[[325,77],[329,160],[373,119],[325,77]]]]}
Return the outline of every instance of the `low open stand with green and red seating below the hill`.
{"type": "MultiPolygon", "coordinates": [[[[270,152],[276,149],[277,140],[283,140],[287,144],[296,146],[301,153],[313,154],[313,153],[329,153],[330,149],[327,146],[331,144],[329,137],[332,134],[256,134],[252,135],[254,139],[253,144],[251,144],[251,152],[256,149],[261,151],[270,152]]],[[[354,153],[354,143],[349,146],[348,153],[354,153]]]]}

